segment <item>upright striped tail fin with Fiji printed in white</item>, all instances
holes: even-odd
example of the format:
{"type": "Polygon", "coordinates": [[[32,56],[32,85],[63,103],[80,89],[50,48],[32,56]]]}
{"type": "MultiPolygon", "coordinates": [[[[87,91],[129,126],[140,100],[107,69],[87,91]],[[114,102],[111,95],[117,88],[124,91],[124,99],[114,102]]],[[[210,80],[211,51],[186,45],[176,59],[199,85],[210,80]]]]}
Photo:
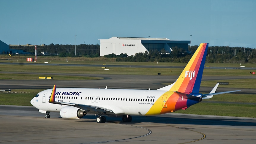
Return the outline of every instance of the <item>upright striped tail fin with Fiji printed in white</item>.
{"type": "Polygon", "coordinates": [[[176,82],[157,90],[199,93],[208,43],[201,43],[176,82]]]}

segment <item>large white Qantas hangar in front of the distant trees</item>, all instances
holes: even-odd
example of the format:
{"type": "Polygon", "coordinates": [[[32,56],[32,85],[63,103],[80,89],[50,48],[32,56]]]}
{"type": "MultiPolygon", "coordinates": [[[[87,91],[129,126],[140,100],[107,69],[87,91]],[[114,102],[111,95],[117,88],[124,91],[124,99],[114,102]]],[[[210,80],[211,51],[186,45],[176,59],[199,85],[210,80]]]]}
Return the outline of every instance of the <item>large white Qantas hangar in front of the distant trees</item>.
{"type": "Polygon", "coordinates": [[[172,48],[184,48],[188,50],[190,41],[170,40],[167,38],[143,38],[143,37],[111,37],[110,39],[100,39],[100,56],[111,53],[120,55],[126,53],[128,56],[145,51],[161,51],[170,53],[172,48]]]}

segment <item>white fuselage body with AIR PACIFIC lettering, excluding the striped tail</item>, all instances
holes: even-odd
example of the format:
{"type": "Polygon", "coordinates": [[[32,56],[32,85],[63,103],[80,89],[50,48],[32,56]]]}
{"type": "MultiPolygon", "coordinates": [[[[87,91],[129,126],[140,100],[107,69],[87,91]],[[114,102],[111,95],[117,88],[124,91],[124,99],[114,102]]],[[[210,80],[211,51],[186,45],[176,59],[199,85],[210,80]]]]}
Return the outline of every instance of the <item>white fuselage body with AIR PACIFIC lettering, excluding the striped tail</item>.
{"type": "MultiPolygon", "coordinates": [[[[59,112],[66,105],[49,103],[53,89],[39,92],[31,104],[44,111],[59,112]]],[[[116,115],[145,115],[156,104],[162,94],[160,90],[96,89],[96,88],[56,88],[55,101],[104,107],[116,115]]],[[[156,113],[156,114],[159,114],[156,113]]]]}

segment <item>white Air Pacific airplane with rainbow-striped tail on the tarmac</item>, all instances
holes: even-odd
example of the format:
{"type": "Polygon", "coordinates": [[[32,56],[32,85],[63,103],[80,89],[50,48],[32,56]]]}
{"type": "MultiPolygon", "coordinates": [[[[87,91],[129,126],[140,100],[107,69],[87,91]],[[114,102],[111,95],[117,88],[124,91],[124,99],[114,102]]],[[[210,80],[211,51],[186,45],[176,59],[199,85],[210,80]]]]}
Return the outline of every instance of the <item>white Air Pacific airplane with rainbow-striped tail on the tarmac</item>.
{"type": "Polygon", "coordinates": [[[213,95],[219,83],[209,94],[200,94],[208,43],[201,43],[178,79],[157,90],[107,88],[56,88],[39,92],[30,103],[50,118],[50,112],[60,112],[62,118],[79,119],[87,113],[97,115],[97,123],[105,123],[105,116],[122,117],[132,121],[131,115],[159,115],[185,110],[213,95]],[[104,116],[105,115],[105,116],[104,116]]]}

